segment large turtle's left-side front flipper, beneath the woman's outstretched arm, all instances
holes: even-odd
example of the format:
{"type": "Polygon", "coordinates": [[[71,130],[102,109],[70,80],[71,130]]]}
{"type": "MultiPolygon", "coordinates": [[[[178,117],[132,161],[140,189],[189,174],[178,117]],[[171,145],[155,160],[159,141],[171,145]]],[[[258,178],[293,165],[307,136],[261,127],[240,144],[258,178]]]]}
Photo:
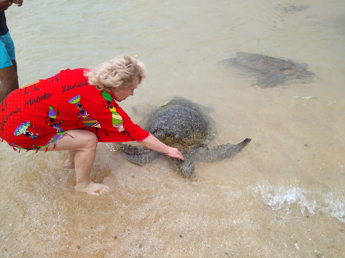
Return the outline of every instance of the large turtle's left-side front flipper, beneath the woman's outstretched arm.
{"type": "Polygon", "coordinates": [[[122,155],[130,162],[135,164],[146,164],[158,157],[158,152],[149,148],[139,148],[136,146],[122,143],[120,147],[122,155]]]}

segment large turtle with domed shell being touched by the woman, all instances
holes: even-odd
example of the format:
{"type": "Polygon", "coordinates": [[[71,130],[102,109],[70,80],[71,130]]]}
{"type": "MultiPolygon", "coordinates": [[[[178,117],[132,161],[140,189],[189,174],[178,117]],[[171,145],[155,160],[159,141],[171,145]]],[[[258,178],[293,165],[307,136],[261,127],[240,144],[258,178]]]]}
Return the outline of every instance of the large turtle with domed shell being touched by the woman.
{"type": "MultiPolygon", "coordinates": [[[[182,172],[185,178],[194,178],[194,163],[189,157],[215,162],[233,157],[241,151],[251,139],[231,144],[226,143],[208,147],[214,137],[215,122],[203,111],[203,106],[188,99],[175,97],[167,104],[148,115],[143,128],[168,146],[178,148],[184,161],[169,159],[182,172]]],[[[120,150],[124,157],[136,164],[146,164],[158,156],[158,152],[146,147],[136,147],[122,143],[120,150]]]]}

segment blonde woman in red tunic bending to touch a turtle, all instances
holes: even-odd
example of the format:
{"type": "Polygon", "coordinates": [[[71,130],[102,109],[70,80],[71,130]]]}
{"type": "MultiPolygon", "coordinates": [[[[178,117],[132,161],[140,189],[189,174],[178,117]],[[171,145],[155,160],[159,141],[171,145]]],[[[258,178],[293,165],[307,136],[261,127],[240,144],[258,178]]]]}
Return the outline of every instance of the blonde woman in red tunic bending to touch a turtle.
{"type": "Polygon", "coordinates": [[[138,141],[142,145],[184,160],[135,125],[118,106],[134,94],[146,77],[145,66],[128,55],[99,68],[67,69],[10,93],[1,105],[0,138],[14,150],[67,150],[64,166],[76,169],[77,192],[103,195],[104,184],[90,179],[98,142],[138,141]]]}

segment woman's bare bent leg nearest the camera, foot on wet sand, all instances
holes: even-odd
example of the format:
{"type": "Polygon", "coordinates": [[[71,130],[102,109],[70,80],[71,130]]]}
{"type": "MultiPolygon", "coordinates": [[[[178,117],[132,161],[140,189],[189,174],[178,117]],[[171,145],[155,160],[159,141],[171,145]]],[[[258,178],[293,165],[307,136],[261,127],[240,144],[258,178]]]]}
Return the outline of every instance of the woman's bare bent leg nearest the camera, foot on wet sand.
{"type": "Polygon", "coordinates": [[[77,192],[86,192],[92,195],[103,195],[109,191],[109,187],[103,184],[93,183],[90,179],[90,173],[93,162],[96,158],[97,136],[87,130],[73,129],[67,131],[70,136],[63,136],[53,145],[48,146],[48,151],[67,150],[68,157],[74,155],[76,168],[76,186],[77,192]]]}

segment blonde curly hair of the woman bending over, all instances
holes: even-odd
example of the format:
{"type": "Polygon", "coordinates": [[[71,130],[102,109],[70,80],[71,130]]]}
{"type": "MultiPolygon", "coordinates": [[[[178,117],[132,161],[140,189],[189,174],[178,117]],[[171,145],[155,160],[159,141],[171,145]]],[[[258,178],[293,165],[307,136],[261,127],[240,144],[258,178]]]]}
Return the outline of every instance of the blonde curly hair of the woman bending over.
{"type": "Polygon", "coordinates": [[[85,70],[89,84],[98,90],[121,91],[130,87],[135,77],[141,80],[146,77],[145,65],[129,55],[121,55],[100,65],[99,68],[85,70]]]}

